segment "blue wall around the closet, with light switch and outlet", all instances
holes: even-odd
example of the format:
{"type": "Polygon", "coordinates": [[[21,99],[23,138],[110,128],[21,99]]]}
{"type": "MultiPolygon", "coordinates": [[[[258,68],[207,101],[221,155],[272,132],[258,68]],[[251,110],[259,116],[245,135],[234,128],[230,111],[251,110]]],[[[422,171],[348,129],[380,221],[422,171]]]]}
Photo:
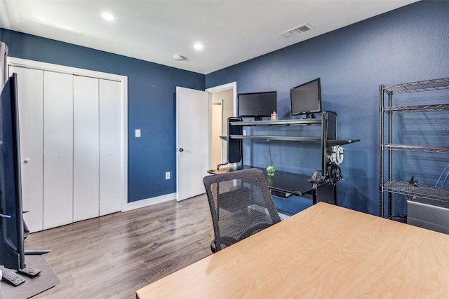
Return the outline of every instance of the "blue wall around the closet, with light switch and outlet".
{"type": "Polygon", "coordinates": [[[128,202],[176,192],[176,86],[204,90],[205,76],[0,29],[11,57],[128,76],[128,202]],[[134,130],[142,130],[134,138],[134,130]]]}

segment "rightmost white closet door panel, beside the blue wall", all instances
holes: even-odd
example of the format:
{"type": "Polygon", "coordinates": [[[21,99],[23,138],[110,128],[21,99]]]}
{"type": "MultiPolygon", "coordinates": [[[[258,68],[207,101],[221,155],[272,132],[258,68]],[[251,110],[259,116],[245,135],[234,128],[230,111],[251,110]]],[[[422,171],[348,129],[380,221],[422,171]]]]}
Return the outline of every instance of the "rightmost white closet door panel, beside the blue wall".
{"type": "Polygon", "coordinates": [[[100,216],[121,210],[123,153],[121,83],[100,79],[100,216]]]}

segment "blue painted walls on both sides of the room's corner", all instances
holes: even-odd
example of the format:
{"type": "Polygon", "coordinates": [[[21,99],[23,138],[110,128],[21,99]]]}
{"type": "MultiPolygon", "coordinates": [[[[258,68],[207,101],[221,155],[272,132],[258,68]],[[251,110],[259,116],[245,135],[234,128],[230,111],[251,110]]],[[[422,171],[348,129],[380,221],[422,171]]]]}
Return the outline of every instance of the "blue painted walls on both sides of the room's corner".
{"type": "MultiPolygon", "coordinates": [[[[449,76],[449,1],[420,1],[288,48],[202,75],[120,55],[0,29],[9,55],[128,76],[128,201],[174,193],[175,86],[203,89],[236,81],[238,92],[277,90],[280,118],[290,116],[289,90],[321,77],[323,109],[337,111],[345,147],[340,205],[379,211],[379,85],[449,76]],[[142,138],[133,138],[135,129],[142,138]]],[[[447,137],[448,135],[443,135],[447,137]]],[[[246,159],[264,166],[267,144],[245,145],[246,159]]],[[[306,146],[273,143],[277,169],[311,173],[306,146]]],[[[439,173],[438,173],[439,174],[439,173]]],[[[292,202],[295,199],[292,200],[292,202]]],[[[300,202],[300,199],[298,199],[300,202]]],[[[303,202],[285,202],[298,209],[303,202]]]]}

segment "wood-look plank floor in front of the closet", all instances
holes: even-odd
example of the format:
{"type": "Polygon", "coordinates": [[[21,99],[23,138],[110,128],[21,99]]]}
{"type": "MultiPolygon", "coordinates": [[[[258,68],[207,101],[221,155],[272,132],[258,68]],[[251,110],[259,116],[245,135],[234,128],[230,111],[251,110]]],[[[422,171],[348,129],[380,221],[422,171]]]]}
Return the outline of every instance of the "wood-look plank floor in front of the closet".
{"type": "MultiPolygon", "coordinates": [[[[206,195],[34,232],[60,284],[35,298],[135,298],[135,291],[210,255],[206,195]]],[[[30,265],[32,266],[32,265],[30,265]]]]}

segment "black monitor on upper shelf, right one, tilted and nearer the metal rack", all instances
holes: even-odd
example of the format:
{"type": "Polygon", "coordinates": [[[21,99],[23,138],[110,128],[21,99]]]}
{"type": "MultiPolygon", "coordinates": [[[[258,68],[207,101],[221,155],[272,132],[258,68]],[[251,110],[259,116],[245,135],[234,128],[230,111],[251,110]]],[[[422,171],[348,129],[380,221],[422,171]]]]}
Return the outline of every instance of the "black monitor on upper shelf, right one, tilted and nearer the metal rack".
{"type": "Polygon", "coordinates": [[[293,116],[305,114],[314,118],[314,113],[321,112],[320,78],[290,89],[291,111],[293,116]]]}

